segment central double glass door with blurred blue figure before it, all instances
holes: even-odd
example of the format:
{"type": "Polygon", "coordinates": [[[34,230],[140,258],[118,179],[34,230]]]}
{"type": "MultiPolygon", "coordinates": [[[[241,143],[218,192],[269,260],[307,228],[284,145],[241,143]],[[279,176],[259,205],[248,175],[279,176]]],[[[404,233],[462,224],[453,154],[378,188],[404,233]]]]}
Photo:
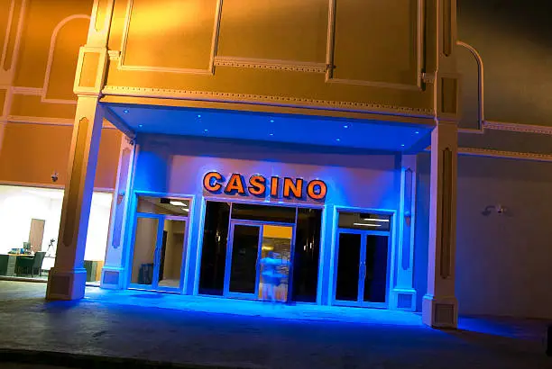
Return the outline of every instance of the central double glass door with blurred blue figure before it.
{"type": "Polygon", "coordinates": [[[287,302],[294,228],[293,224],[232,221],[225,296],[287,302]]]}

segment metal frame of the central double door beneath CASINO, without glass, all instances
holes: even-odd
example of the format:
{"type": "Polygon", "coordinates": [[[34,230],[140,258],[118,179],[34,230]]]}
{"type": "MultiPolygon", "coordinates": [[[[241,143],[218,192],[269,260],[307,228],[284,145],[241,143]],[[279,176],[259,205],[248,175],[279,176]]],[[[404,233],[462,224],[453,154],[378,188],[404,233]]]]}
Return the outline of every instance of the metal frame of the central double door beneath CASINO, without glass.
{"type": "Polygon", "coordinates": [[[290,239],[290,266],[289,266],[289,275],[288,275],[288,301],[290,301],[290,285],[291,285],[291,270],[293,267],[293,255],[295,248],[295,227],[296,223],[286,223],[286,222],[275,222],[275,221],[265,221],[265,220],[230,220],[229,224],[229,236],[227,240],[226,247],[226,263],[225,263],[225,285],[223,296],[226,298],[234,299],[244,299],[244,300],[260,300],[259,299],[259,284],[261,282],[261,256],[262,256],[262,231],[264,226],[280,226],[280,227],[290,227],[291,228],[291,239],[290,239]],[[249,227],[258,227],[259,228],[259,240],[257,244],[257,259],[255,263],[255,292],[253,293],[232,293],[230,292],[230,274],[232,272],[232,254],[234,252],[234,229],[236,225],[249,226],[249,227]]]}

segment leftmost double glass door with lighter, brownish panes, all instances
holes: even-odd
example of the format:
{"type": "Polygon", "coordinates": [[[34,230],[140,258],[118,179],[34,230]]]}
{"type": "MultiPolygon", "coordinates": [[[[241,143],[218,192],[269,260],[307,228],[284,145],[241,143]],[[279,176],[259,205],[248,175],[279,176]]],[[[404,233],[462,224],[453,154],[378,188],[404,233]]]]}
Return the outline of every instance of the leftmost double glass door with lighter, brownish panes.
{"type": "Polygon", "coordinates": [[[130,286],[147,290],[181,290],[186,217],[137,213],[130,286]]]}

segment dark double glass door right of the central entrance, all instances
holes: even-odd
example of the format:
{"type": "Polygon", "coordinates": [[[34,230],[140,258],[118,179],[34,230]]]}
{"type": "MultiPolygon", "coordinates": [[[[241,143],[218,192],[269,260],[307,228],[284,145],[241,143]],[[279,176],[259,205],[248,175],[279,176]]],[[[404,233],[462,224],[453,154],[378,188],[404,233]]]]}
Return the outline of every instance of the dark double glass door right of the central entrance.
{"type": "Polygon", "coordinates": [[[389,234],[339,229],[334,304],[385,306],[389,234]]]}

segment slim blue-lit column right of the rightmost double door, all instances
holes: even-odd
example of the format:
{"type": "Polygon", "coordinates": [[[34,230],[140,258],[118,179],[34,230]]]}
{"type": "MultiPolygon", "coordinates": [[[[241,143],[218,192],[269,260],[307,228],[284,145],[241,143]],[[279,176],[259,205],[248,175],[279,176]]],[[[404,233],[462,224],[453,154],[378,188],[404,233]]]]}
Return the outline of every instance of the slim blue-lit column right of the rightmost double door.
{"type": "Polygon", "coordinates": [[[398,237],[394,253],[396,278],[391,289],[390,308],[415,311],[414,222],[416,205],[416,155],[403,155],[400,168],[398,237]]]}

